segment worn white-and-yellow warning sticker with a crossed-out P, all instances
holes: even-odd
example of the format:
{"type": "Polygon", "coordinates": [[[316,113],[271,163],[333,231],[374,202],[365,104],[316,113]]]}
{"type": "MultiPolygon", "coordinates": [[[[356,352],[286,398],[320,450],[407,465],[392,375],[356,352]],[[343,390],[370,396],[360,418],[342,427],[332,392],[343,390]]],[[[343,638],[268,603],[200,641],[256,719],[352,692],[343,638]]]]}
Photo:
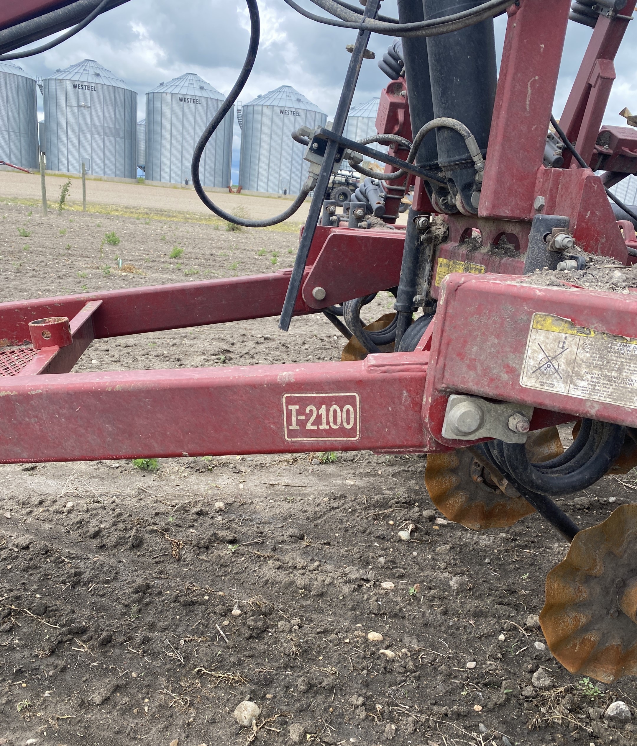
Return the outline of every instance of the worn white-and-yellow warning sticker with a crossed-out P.
{"type": "Polygon", "coordinates": [[[534,313],[520,385],[637,407],[637,339],[534,313]]]}

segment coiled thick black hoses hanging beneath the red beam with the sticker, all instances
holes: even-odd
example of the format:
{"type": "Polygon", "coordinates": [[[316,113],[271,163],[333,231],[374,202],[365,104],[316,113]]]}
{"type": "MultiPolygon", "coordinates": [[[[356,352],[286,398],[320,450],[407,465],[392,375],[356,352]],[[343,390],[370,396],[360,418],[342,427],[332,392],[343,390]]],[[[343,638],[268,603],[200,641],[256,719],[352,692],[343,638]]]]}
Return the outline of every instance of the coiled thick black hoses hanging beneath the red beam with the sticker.
{"type": "Polygon", "coordinates": [[[583,420],[571,448],[562,456],[530,463],[524,443],[489,441],[496,466],[524,489],[541,495],[571,495],[591,486],[606,474],[624,444],[626,428],[608,422],[583,420]]]}

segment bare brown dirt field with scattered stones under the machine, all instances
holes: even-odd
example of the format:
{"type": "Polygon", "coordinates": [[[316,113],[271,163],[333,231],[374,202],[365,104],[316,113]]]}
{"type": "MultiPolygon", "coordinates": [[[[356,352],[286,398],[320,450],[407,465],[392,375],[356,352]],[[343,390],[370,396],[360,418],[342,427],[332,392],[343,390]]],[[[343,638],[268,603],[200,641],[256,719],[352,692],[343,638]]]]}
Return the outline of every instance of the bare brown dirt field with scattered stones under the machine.
{"type": "MultiPolygon", "coordinates": [[[[1,301],[294,259],[292,231],[145,215],[0,204],[1,301]]],[[[77,369],[337,360],[342,345],[322,316],[289,333],[263,319],[95,342],[77,369]]],[[[536,515],[483,533],[441,521],[424,465],[358,452],[0,466],[0,744],[637,743],[631,721],[603,719],[615,699],[635,715],[635,680],[586,682],[544,646],[536,615],[565,542],[536,515]],[[233,718],[242,700],[260,707],[256,732],[233,718]]],[[[621,479],[559,503],[597,524],[632,501],[621,479]]]]}

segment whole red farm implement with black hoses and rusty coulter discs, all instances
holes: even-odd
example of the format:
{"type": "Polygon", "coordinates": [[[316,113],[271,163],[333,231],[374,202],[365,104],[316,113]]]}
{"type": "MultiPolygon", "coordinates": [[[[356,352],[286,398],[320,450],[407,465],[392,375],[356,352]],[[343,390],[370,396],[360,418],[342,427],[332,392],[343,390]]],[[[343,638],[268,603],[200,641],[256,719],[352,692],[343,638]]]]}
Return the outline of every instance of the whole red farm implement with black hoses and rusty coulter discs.
{"type": "MultiPolygon", "coordinates": [[[[0,59],[50,48],[125,1],[10,4],[0,59]]],[[[637,172],[637,130],[602,125],[635,0],[398,0],[398,19],[381,0],[311,0],[319,13],[285,1],[354,39],[333,122],[292,135],[310,163],[304,188],[282,215],[254,221],[225,213],[199,181],[257,57],[256,0],[245,64],[195,148],[192,182],[214,213],[256,228],[311,194],[294,268],[0,304],[1,462],[427,453],[427,489],[452,521],[481,530],[537,511],[571,542],[540,617],[556,659],[607,683],[637,674],[637,505],[579,530],[551,499],[637,466],[637,294],[569,272],[605,259],[621,277],[637,263],[636,208],[608,191],[637,172]],[[498,76],[493,19],[504,13],[498,76]],[[558,123],[569,19],[591,38],[558,123]],[[392,37],[380,62],[391,81],[379,134],[356,142],[342,133],[371,33],[392,37]],[[345,205],[324,201],[346,161],[365,181],[345,205]],[[386,290],[395,313],[364,326],[361,308],[386,290]],[[266,316],[287,330],[308,313],[348,339],[342,362],[69,376],[93,339],[266,316]]]]}

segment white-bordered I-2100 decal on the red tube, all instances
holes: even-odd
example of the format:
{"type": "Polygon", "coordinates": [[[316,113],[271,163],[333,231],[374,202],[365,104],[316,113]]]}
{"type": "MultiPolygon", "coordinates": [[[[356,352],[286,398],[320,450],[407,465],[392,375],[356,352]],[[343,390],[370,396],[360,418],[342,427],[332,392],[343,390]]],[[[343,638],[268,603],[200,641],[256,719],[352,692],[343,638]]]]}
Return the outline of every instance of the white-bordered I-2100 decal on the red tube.
{"type": "Polygon", "coordinates": [[[358,394],[283,394],[286,440],[358,440],[358,394]]]}

